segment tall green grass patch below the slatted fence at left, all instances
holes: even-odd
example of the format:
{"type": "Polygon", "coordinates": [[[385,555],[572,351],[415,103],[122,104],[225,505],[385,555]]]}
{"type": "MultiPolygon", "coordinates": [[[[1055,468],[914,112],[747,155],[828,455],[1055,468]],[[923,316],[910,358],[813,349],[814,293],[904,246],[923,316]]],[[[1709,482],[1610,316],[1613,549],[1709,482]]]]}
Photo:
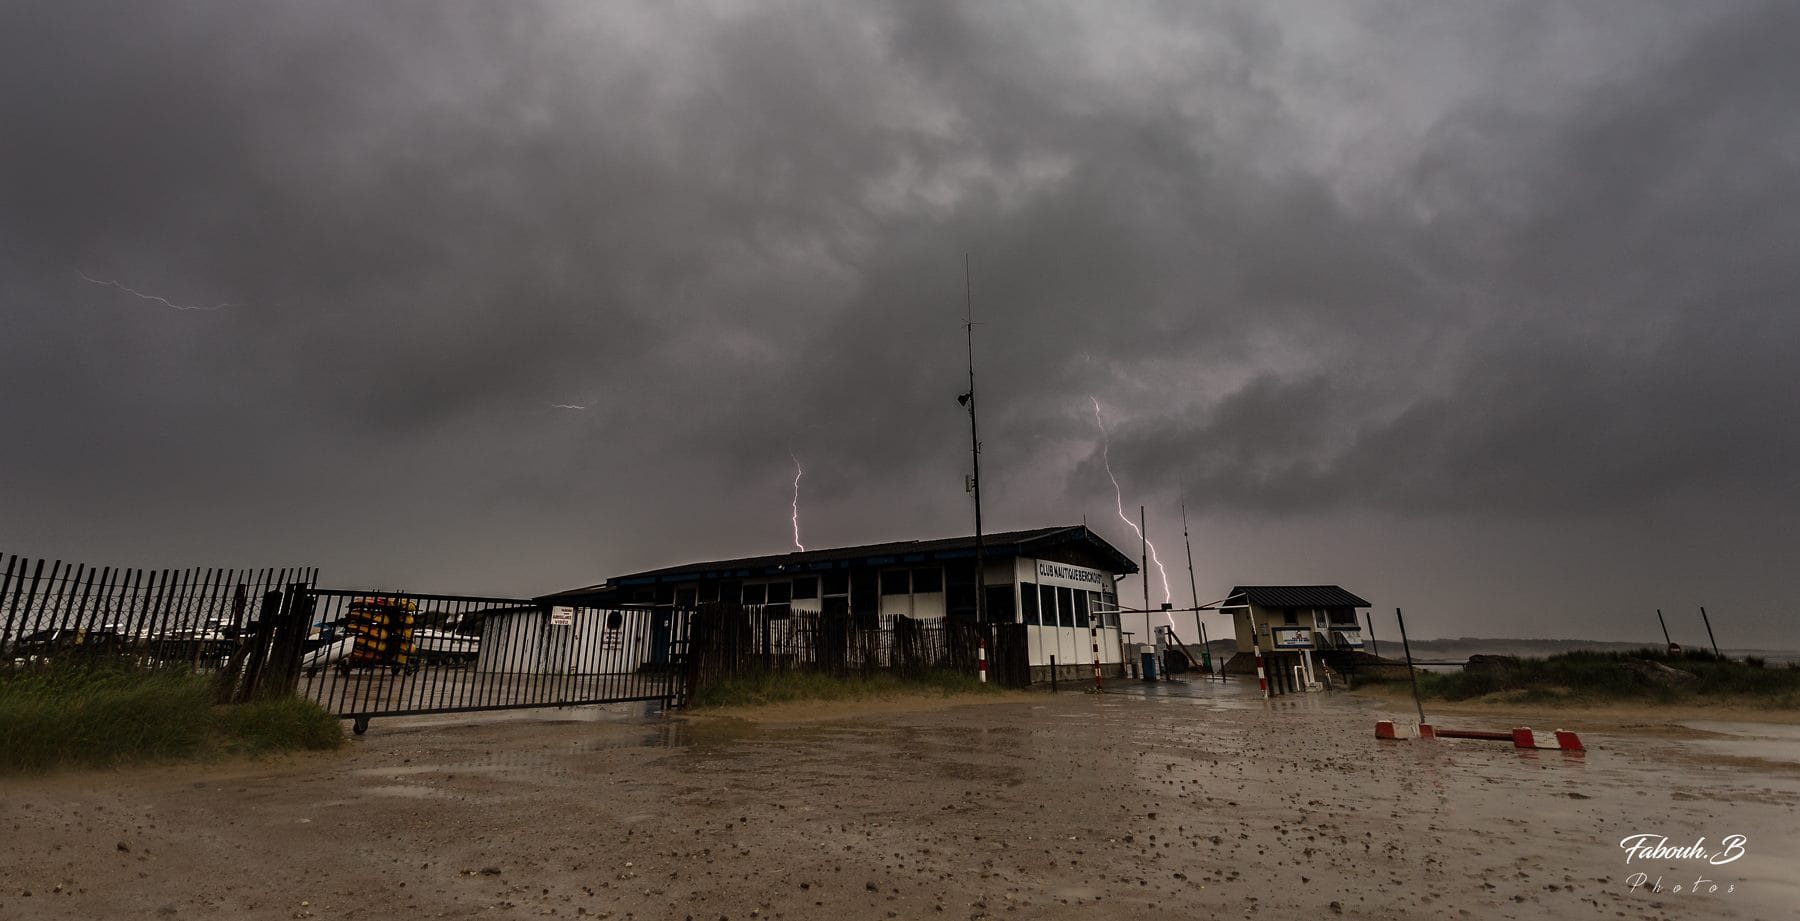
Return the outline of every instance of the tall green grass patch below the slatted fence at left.
{"type": "Polygon", "coordinates": [[[211,678],[180,669],[70,666],[0,673],[0,773],[344,743],[338,720],[313,702],[220,707],[214,700],[211,678]]]}

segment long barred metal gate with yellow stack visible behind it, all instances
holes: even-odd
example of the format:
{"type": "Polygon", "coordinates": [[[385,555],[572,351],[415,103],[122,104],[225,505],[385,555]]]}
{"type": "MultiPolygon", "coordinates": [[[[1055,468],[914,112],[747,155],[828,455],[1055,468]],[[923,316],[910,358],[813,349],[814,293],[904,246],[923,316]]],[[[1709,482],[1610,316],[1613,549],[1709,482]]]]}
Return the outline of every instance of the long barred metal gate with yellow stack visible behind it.
{"type": "Polygon", "coordinates": [[[688,610],[293,586],[297,693],[360,736],[376,716],[661,700],[679,707],[688,610]]]}

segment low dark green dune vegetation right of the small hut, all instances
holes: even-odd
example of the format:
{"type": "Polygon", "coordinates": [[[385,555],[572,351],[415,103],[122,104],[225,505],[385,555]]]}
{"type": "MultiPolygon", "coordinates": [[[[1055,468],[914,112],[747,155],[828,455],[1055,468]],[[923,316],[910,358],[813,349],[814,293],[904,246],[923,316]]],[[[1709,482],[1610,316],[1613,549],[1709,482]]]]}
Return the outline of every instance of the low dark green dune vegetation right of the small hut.
{"type": "Polygon", "coordinates": [[[1418,693],[1436,700],[1499,696],[1521,703],[1735,703],[1800,709],[1800,667],[1764,667],[1690,649],[1665,655],[1562,653],[1512,658],[1456,673],[1418,673],[1418,693]]]}

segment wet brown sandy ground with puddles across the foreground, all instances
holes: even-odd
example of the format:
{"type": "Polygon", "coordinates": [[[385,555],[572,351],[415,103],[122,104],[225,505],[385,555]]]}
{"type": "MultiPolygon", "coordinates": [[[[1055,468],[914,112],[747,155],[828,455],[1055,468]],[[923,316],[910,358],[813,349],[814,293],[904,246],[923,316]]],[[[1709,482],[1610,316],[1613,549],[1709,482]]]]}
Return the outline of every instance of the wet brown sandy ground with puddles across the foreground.
{"type": "Polygon", "coordinates": [[[1564,756],[1242,694],[376,720],[347,754],[5,781],[0,919],[1800,916],[1791,727],[1564,756]],[[1629,835],[1748,840],[1627,865],[1629,835]]]}

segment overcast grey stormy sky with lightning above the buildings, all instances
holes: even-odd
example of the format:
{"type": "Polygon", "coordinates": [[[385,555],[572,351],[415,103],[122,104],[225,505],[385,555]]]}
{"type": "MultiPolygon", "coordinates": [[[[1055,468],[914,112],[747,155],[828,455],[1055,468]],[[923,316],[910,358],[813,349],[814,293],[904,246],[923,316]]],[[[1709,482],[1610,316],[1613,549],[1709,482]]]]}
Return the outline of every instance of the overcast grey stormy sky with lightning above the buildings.
{"type": "Polygon", "coordinates": [[[808,547],[967,534],[967,254],[990,531],[1136,556],[1147,505],[1188,603],[1186,504],[1202,601],[1800,646],[1795,49],[1784,0],[0,4],[0,550],[542,594],[792,549],[794,459],[808,547]]]}

